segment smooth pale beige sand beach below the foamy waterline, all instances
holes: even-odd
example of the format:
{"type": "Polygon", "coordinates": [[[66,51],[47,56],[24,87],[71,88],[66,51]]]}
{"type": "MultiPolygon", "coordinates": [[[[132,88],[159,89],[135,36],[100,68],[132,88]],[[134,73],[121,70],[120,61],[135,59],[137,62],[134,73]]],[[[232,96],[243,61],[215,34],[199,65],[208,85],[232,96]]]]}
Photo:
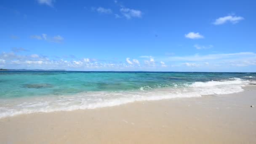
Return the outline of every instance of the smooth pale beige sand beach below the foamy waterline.
{"type": "Polygon", "coordinates": [[[0,119],[1,144],[256,144],[256,85],[230,95],[0,119]]]}

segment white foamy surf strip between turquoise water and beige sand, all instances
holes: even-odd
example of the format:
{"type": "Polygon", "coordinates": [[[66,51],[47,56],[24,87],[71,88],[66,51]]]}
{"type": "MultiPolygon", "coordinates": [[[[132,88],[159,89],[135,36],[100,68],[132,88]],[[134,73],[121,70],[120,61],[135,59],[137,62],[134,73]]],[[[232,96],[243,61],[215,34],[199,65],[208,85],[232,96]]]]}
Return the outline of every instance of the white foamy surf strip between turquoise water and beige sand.
{"type": "Polygon", "coordinates": [[[195,82],[185,87],[167,87],[138,91],[95,91],[67,96],[37,96],[0,101],[0,118],[35,112],[72,111],[112,107],[134,101],[200,97],[243,91],[248,81],[232,78],[224,81],[195,82]]]}

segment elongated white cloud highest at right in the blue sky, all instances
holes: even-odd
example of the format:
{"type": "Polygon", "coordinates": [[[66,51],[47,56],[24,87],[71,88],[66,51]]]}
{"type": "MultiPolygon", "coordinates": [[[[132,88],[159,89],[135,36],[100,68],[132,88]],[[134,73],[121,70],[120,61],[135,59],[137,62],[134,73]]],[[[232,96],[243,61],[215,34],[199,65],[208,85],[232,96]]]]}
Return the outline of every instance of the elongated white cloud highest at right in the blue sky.
{"type": "Polygon", "coordinates": [[[244,18],[242,16],[224,16],[216,19],[213,24],[220,25],[225,24],[227,22],[231,22],[232,24],[236,24],[239,21],[243,20],[244,18]]]}

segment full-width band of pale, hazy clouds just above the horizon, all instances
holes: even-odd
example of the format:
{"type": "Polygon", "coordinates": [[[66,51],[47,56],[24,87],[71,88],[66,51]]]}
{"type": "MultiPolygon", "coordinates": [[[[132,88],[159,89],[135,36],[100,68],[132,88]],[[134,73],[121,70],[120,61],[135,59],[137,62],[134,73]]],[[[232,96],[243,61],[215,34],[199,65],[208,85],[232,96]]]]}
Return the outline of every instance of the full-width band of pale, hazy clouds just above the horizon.
{"type": "Polygon", "coordinates": [[[172,56],[168,59],[158,58],[159,62],[156,62],[152,56],[147,56],[142,65],[138,59],[131,60],[130,58],[126,59],[127,63],[121,61],[96,61],[89,58],[79,59],[77,57],[67,57],[65,60],[62,58],[47,57],[38,54],[24,55],[24,53],[20,54],[11,51],[0,53],[0,65],[1,67],[8,66],[8,68],[14,69],[163,70],[164,67],[168,67],[164,62],[166,61],[171,63],[170,67],[175,71],[189,71],[192,69],[196,71],[200,69],[223,71],[223,66],[227,69],[232,67],[247,67],[246,69],[250,70],[251,67],[248,66],[256,67],[256,53],[252,52],[172,56]]]}

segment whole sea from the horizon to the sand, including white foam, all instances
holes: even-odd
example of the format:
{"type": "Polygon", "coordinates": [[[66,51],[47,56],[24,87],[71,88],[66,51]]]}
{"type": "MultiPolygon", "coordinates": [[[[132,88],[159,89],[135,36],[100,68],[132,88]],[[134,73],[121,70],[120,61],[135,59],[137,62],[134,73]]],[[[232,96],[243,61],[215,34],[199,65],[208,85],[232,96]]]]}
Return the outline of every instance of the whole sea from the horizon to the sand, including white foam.
{"type": "Polygon", "coordinates": [[[0,71],[0,118],[243,91],[256,73],[0,71]]]}

